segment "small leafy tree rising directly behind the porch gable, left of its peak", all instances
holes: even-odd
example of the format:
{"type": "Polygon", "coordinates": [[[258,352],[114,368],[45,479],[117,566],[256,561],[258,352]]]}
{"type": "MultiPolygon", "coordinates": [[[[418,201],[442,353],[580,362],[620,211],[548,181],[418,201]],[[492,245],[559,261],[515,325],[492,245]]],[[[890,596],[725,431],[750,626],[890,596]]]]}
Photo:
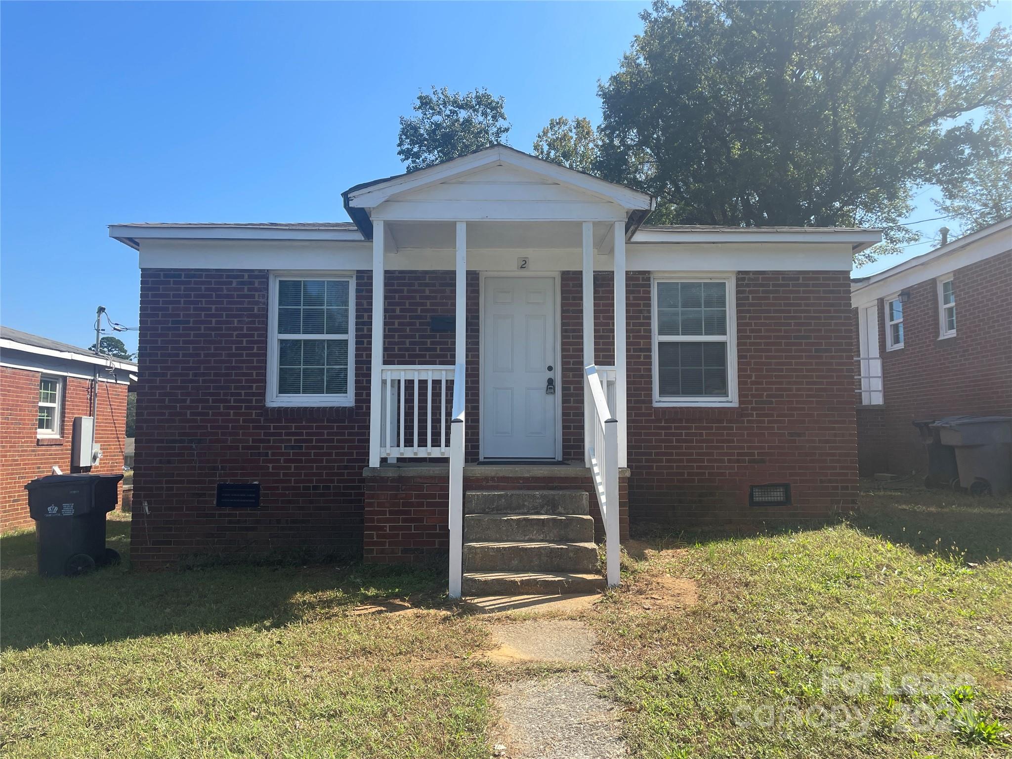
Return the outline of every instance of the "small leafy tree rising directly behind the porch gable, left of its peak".
{"type": "Polygon", "coordinates": [[[445,87],[419,92],[412,106],[417,115],[401,116],[397,154],[415,171],[504,142],[510,131],[505,103],[484,88],[463,95],[445,87]]]}

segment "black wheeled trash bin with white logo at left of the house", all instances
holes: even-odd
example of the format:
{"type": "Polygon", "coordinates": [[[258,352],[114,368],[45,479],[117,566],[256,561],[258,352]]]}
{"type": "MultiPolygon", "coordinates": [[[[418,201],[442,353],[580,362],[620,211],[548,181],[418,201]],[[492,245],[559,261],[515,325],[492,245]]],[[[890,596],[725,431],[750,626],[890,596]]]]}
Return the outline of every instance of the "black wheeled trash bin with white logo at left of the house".
{"type": "Polygon", "coordinates": [[[105,547],[105,515],[116,507],[122,475],[50,475],[24,486],[35,520],[38,574],[80,575],[117,564],[105,547]]]}

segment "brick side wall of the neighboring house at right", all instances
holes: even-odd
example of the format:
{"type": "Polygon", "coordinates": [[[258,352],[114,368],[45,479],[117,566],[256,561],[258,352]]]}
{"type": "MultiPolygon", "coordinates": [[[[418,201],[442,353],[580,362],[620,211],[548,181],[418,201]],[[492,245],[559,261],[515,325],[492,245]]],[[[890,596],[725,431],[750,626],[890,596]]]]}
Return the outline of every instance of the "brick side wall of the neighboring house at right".
{"type": "MultiPolygon", "coordinates": [[[[954,337],[938,339],[934,279],[908,288],[904,347],[898,350],[886,350],[882,302],[878,301],[886,401],[878,472],[905,475],[925,471],[927,455],[911,424],[915,419],[1012,415],[1012,251],[953,273],[954,337]]],[[[861,424],[863,441],[869,433],[861,424]]]]}

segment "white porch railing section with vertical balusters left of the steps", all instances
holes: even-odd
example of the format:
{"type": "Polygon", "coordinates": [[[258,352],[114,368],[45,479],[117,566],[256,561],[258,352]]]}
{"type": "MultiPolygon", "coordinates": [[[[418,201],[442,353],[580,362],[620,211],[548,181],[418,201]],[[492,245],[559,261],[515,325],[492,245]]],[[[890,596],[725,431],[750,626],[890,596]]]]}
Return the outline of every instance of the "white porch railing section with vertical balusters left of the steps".
{"type": "MultiPolygon", "coordinates": [[[[380,455],[449,456],[449,408],[456,390],[453,366],[384,366],[380,381],[380,455]],[[447,391],[449,385],[452,390],[447,391]]],[[[461,382],[461,385],[463,383],[461,382]]]]}

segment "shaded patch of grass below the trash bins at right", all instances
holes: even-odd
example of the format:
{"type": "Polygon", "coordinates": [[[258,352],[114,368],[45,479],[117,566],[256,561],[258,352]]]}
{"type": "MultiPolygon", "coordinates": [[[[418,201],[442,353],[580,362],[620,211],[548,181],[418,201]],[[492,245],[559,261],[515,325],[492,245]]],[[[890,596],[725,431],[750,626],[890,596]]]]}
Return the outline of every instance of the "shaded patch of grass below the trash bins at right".
{"type": "Polygon", "coordinates": [[[867,535],[919,554],[1012,561],[1012,496],[974,497],[924,488],[871,491],[862,494],[860,509],[848,521],[867,535]]]}

